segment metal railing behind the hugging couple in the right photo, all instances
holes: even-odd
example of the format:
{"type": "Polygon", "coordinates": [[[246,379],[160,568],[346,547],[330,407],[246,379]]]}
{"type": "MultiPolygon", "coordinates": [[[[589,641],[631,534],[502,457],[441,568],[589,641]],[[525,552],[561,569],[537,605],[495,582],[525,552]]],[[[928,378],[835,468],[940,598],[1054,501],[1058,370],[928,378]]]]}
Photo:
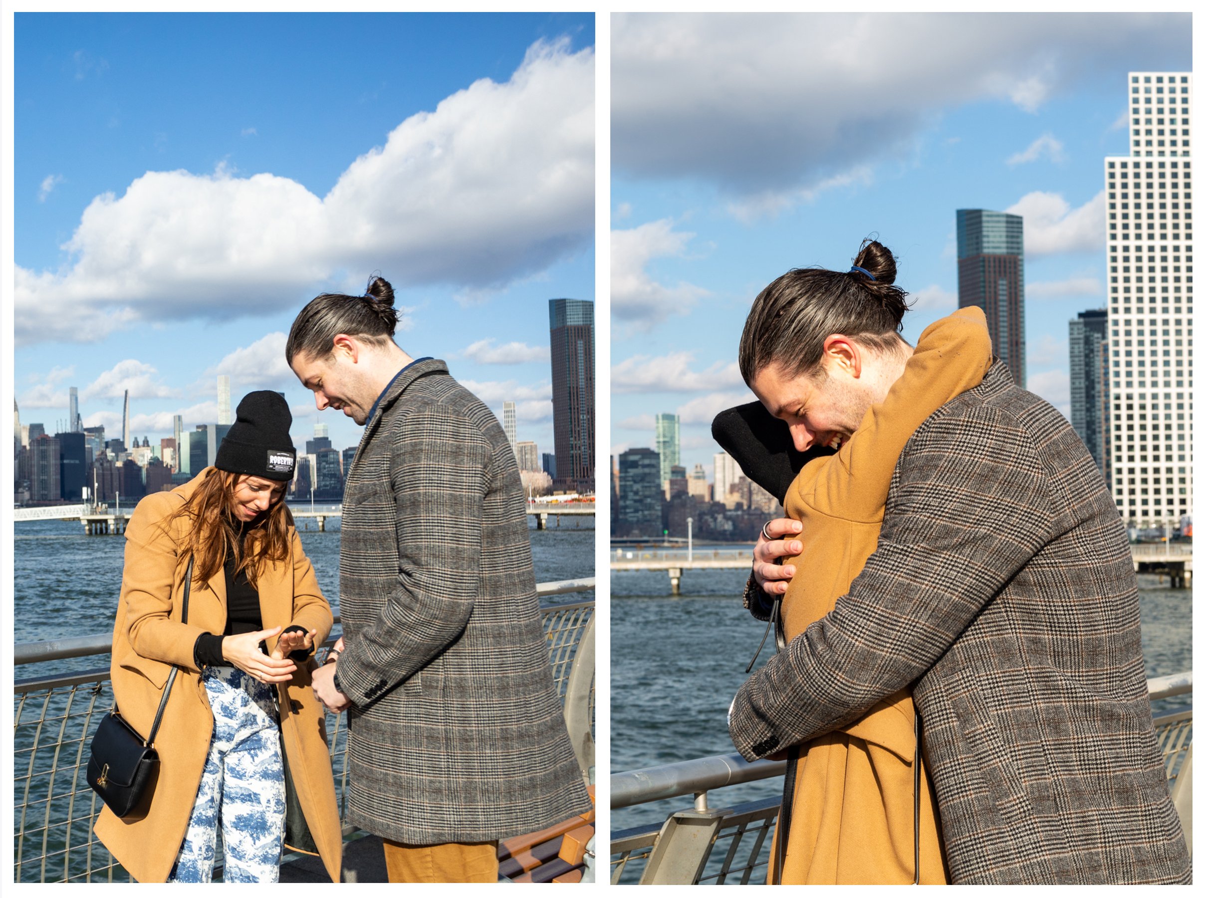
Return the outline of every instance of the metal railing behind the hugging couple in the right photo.
{"type": "MultiPolygon", "coordinates": [[[[1193,671],[1147,681],[1152,702],[1193,694],[1193,671]]],[[[1173,804],[1187,838],[1192,832],[1193,711],[1153,721],[1173,804]]],[[[692,758],[643,770],[613,774],[611,809],[693,796],[691,808],[611,833],[611,882],[642,885],[744,885],[762,882],[779,816],[779,796],[725,808],[709,793],[726,786],[781,776],[785,761],[748,762],[740,755],[692,758]],[[754,878],[755,871],[761,873],[754,878]],[[754,878],[754,879],[751,879],[754,878]]],[[[778,790],[777,790],[778,792],[778,790]]]]}

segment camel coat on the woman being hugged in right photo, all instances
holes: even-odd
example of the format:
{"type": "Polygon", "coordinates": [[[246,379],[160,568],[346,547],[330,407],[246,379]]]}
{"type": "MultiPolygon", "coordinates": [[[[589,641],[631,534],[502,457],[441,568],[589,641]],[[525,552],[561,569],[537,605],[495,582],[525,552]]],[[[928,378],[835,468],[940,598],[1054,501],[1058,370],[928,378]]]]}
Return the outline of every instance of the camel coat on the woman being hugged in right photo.
{"type": "MultiPolygon", "coordinates": [[[[960,309],[921,334],[904,374],[837,454],[801,469],[788,515],[803,551],[783,601],[790,641],[833,610],[874,552],[904,444],[947,401],[979,385],[993,352],[984,312],[960,309]]],[[[784,884],[913,882],[913,697],[897,691],[841,729],[801,746],[784,884]]],[[[944,884],[935,800],[923,764],[923,884],[944,884]]],[[[778,835],[778,834],[777,834],[778,835]]],[[[772,850],[772,869],[775,852],[772,850]]],[[[773,879],[772,879],[773,881],[773,879]]]]}

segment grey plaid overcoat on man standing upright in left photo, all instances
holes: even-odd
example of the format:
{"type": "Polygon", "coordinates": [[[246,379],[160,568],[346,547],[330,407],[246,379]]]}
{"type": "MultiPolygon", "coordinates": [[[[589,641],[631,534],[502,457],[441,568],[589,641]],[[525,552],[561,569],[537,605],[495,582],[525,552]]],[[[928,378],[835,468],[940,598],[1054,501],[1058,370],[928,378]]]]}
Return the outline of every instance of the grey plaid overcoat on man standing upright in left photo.
{"type": "Polygon", "coordinates": [[[519,466],[438,359],[367,422],[344,491],[347,822],[411,845],[587,810],[540,626],[519,466]]]}

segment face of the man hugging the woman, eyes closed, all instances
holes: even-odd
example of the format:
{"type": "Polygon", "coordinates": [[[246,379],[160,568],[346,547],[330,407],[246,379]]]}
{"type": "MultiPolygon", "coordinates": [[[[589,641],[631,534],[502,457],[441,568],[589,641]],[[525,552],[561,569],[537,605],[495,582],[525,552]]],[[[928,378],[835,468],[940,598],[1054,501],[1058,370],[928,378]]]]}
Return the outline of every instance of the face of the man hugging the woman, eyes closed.
{"type": "Polygon", "coordinates": [[[751,388],[767,411],[788,423],[800,452],[813,446],[841,448],[877,401],[868,378],[856,376],[849,365],[835,363],[827,354],[818,370],[797,377],[779,365],[768,365],[751,388]]]}

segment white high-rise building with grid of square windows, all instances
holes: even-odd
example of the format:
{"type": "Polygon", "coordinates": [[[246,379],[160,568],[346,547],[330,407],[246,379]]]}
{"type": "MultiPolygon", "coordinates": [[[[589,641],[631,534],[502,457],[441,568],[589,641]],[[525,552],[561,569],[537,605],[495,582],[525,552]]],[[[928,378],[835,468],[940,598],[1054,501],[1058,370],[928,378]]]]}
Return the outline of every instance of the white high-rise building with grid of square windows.
{"type": "Polygon", "coordinates": [[[1130,153],[1105,160],[1110,479],[1129,527],[1193,511],[1193,75],[1130,72],[1130,153]]]}

